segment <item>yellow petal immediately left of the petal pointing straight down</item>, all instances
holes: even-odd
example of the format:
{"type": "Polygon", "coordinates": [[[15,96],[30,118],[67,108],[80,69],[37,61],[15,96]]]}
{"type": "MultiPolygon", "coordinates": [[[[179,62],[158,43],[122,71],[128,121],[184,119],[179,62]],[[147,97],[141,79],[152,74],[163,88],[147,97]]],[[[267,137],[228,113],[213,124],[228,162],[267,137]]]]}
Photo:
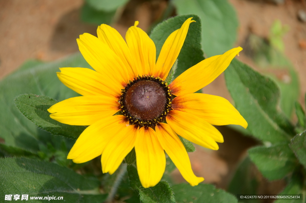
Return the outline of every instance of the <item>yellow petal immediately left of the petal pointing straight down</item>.
{"type": "Polygon", "coordinates": [[[139,127],[129,125],[114,135],[107,143],[101,156],[103,173],[113,174],[126,155],[133,149],[139,127]]]}

